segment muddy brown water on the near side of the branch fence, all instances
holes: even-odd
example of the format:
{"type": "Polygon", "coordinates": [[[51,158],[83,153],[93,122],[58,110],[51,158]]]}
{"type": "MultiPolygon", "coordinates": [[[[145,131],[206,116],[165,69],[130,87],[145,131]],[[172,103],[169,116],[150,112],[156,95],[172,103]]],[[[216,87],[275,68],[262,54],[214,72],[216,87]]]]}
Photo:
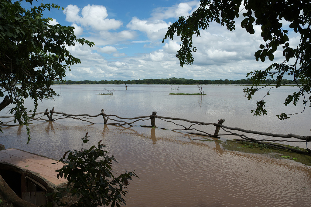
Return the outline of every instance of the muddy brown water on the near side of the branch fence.
{"type": "Polygon", "coordinates": [[[128,186],[130,207],[309,206],[311,202],[311,168],[294,161],[226,151],[218,142],[190,140],[197,136],[162,129],[57,123],[30,127],[29,145],[22,133],[10,142],[55,159],[68,148],[79,149],[86,131],[92,138],[85,147],[102,139],[109,154],[118,158],[115,171],[135,169],[140,178],[128,186]]]}

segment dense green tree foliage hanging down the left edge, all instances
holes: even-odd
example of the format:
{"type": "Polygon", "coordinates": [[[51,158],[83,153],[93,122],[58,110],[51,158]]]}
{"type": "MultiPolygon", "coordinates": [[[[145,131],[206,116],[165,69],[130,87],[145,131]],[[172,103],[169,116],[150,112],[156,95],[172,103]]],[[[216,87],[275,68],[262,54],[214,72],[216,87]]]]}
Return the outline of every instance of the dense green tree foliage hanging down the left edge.
{"type": "MultiPolygon", "coordinates": [[[[37,101],[53,98],[50,88],[54,81],[62,81],[65,71],[81,61],[72,56],[66,46],[93,42],[77,38],[74,27],[50,25],[44,10],[60,9],[55,4],[41,3],[25,9],[22,1],[0,0],[0,97],[7,96],[0,110],[13,103],[10,110],[15,121],[26,124],[27,112],[35,112],[37,101]],[[34,100],[34,110],[27,110],[24,99],[34,100]]],[[[33,0],[26,0],[32,4],[33,0]]],[[[63,8],[62,8],[63,9],[63,8]]]]}

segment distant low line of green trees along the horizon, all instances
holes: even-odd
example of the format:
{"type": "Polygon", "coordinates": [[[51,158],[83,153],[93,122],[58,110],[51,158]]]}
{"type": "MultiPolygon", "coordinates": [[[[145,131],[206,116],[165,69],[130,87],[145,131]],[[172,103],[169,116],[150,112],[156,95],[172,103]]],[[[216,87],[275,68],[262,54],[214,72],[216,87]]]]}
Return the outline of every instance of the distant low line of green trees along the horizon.
{"type": "MultiPolygon", "coordinates": [[[[266,79],[262,81],[262,84],[273,84],[274,79],[266,79]]],[[[282,79],[281,84],[288,83],[291,80],[282,79]]],[[[65,82],[54,82],[54,84],[249,84],[252,85],[251,80],[241,79],[241,80],[193,80],[185,78],[167,78],[167,79],[143,79],[143,80],[79,80],[72,81],[67,80],[65,82]]]]}

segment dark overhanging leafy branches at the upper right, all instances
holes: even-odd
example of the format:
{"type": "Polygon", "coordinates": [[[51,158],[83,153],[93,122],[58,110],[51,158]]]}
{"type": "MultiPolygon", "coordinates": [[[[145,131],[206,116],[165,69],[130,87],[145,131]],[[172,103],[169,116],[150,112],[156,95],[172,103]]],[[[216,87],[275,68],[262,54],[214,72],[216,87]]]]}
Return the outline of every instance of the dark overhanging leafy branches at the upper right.
{"type": "MultiPolygon", "coordinates": [[[[284,104],[293,103],[296,105],[300,97],[303,97],[304,108],[308,102],[311,107],[311,70],[310,70],[310,24],[311,24],[311,4],[307,0],[201,0],[200,7],[191,16],[181,16],[169,28],[163,39],[180,36],[181,48],[176,56],[183,67],[185,64],[193,63],[193,54],[197,48],[193,46],[193,35],[200,36],[200,30],[206,30],[212,21],[226,26],[230,31],[235,29],[235,20],[239,18],[240,11],[243,11],[241,27],[249,34],[254,34],[254,25],[261,25],[261,37],[266,44],[260,44],[260,50],[255,52],[257,61],[264,62],[266,57],[274,60],[273,53],[280,47],[283,49],[285,58],[281,63],[272,63],[265,70],[254,70],[247,74],[252,83],[258,86],[265,83],[266,79],[275,79],[276,86],[281,86],[284,75],[293,77],[291,84],[295,83],[299,87],[297,92],[290,94],[284,104]],[[243,4],[243,5],[242,5],[243,4]],[[290,22],[289,28],[285,28],[281,20],[290,22]],[[293,48],[290,46],[288,32],[300,34],[300,44],[293,48]],[[299,86],[297,80],[301,81],[299,86]],[[309,96],[309,97],[308,97],[309,96]]],[[[267,84],[264,87],[269,86],[267,84]]],[[[258,87],[245,88],[245,96],[251,99],[258,87]]],[[[271,89],[271,88],[270,88],[271,89]]],[[[270,90],[269,90],[270,91],[270,90]]],[[[269,91],[266,95],[269,95],[269,91]]],[[[252,110],[254,115],[265,115],[265,102],[262,99],[257,101],[256,110],[252,110]]],[[[302,113],[302,112],[300,112],[302,113]]],[[[290,115],[281,113],[277,115],[279,119],[288,119],[290,115]]]]}

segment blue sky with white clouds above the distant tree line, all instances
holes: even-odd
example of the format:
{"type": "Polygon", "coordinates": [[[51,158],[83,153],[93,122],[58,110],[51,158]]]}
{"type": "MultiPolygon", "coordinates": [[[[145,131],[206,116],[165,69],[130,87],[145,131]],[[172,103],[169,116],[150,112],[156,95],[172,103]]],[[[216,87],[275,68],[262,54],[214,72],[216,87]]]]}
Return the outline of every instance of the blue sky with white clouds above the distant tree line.
{"type": "MultiPolygon", "coordinates": [[[[44,11],[51,25],[74,26],[75,35],[95,43],[67,46],[68,51],[81,60],[81,64],[67,70],[67,80],[133,80],[186,78],[196,80],[246,79],[254,70],[264,70],[272,62],[256,61],[254,53],[260,44],[260,26],[254,27],[255,34],[242,29],[243,7],[236,20],[236,29],[230,32],[225,27],[212,23],[201,37],[193,38],[192,65],[181,67],[175,56],[180,48],[179,37],[174,40],[165,37],[168,27],[179,16],[189,16],[200,1],[128,1],[128,0],[38,0],[39,3],[55,3],[64,11],[44,11]]],[[[34,2],[33,6],[35,6],[34,2]]],[[[24,2],[24,7],[29,3],[24,2]]],[[[287,29],[289,23],[282,21],[287,29]]],[[[290,45],[299,44],[299,35],[289,32],[290,45]]],[[[281,48],[280,48],[281,49],[281,48]]],[[[282,50],[274,53],[274,62],[282,62],[282,50]]],[[[285,77],[291,79],[290,77],[285,77]]]]}

